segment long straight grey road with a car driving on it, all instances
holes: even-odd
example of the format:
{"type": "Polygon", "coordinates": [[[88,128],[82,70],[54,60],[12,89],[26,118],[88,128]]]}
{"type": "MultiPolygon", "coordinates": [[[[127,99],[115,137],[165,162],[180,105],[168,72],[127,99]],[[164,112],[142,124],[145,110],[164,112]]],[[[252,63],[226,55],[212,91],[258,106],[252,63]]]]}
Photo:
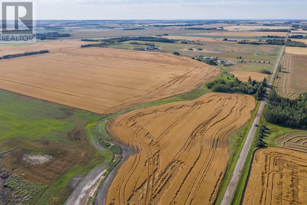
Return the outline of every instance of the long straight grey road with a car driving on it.
{"type": "MultiPolygon", "coordinates": [[[[289,36],[289,33],[286,35],[286,39],[288,38],[288,36],[289,36]]],[[[238,159],[237,163],[235,164],[235,169],[233,170],[231,177],[230,177],[230,180],[227,184],[227,188],[226,188],[226,191],[224,193],[221,205],[229,205],[230,202],[231,202],[232,196],[235,193],[235,189],[238,185],[238,181],[239,181],[239,178],[240,178],[240,175],[241,175],[241,172],[242,172],[248,151],[251,148],[251,144],[253,143],[253,139],[254,139],[254,136],[255,136],[255,133],[256,133],[256,130],[257,130],[257,127],[255,127],[254,124],[259,123],[264,105],[266,103],[266,96],[267,96],[267,94],[268,94],[268,92],[269,92],[269,90],[272,86],[272,83],[273,83],[273,80],[274,80],[274,77],[275,77],[275,74],[276,74],[276,70],[277,70],[278,64],[280,62],[280,59],[282,58],[282,53],[283,53],[284,49],[285,49],[285,46],[282,46],[282,50],[280,51],[280,54],[278,56],[278,59],[277,59],[277,62],[275,64],[273,73],[270,77],[268,86],[266,87],[265,97],[260,102],[258,111],[256,113],[253,124],[252,124],[252,126],[251,126],[251,128],[250,128],[250,130],[247,134],[247,137],[246,137],[246,140],[244,142],[244,145],[243,145],[242,151],[240,153],[239,159],[238,159]]]]}

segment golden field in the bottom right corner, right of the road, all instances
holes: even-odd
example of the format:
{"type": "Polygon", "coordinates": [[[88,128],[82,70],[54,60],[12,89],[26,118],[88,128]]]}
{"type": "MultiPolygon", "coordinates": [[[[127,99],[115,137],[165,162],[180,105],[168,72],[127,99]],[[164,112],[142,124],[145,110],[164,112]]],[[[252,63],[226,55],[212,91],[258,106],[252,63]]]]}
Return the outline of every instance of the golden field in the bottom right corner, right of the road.
{"type": "Polygon", "coordinates": [[[307,204],[307,154],[268,147],[256,151],[243,204],[307,204]]]}

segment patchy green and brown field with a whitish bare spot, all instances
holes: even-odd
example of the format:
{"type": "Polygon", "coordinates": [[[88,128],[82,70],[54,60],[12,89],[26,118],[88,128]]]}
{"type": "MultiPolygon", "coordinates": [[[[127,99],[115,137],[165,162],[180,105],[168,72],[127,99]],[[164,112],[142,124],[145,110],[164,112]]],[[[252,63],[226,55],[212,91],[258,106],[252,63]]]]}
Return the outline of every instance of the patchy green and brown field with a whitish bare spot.
{"type": "Polygon", "coordinates": [[[0,151],[15,149],[0,159],[4,170],[14,173],[6,180],[8,188],[1,184],[7,192],[0,201],[7,197],[5,204],[64,204],[73,176],[111,159],[108,150],[93,148],[88,136],[87,125],[102,117],[0,90],[0,151]]]}

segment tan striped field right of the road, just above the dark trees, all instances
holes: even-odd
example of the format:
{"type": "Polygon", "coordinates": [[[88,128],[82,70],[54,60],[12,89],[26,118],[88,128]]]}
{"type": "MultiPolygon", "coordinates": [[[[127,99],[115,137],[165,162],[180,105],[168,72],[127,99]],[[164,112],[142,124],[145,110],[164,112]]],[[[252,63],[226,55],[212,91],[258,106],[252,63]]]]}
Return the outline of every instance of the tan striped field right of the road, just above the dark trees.
{"type": "Polygon", "coordinates": [[[278,73],[276,89],[284,97],[296,98],[307,92],[307,55],[285,54],[282,71],[278,73]]]}

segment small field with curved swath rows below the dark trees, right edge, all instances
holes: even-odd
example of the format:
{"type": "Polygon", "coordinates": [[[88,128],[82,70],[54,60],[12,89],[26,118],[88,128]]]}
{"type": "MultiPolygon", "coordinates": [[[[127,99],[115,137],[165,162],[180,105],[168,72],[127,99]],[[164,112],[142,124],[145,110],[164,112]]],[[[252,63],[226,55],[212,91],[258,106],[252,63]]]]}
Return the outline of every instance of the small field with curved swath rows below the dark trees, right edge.
{"type": "Polygon", "coordinates": [[[276,139],[276,143],[281,147],[307,153],[307,132],[282,135],[276,139]]]}

